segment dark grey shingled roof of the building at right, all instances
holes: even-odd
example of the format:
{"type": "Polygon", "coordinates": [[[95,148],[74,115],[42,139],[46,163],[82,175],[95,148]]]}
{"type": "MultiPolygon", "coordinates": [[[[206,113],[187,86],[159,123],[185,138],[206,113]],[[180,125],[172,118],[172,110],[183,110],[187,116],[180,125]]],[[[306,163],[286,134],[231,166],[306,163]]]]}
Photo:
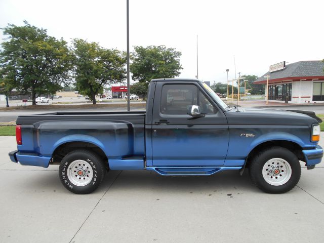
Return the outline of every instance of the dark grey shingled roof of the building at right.
{"type": "Polygon", "coordinates": [[[255,82],[267,80],[266,75],[269,75],[269,80],[285,77],[324,77],[324,62],[323,61],[299,61],[286,65],[285,69],[275,72],[267,72],[259,77],[255,82]]]}

